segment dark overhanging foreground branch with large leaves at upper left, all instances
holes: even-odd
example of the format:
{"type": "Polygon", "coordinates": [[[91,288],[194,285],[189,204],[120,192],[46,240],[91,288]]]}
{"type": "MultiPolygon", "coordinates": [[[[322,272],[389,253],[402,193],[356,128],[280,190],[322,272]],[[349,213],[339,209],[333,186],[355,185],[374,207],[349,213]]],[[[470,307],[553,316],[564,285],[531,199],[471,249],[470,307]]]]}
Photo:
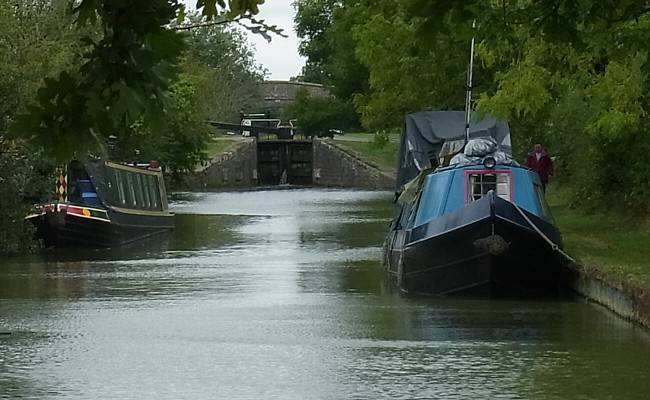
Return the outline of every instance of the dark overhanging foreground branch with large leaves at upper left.
{"type": "MultiPolygon", "coordinates": [[[[198,0],[208,18],[254,15],[262,0],[198,0]]],[[[80,68],[46,79],[38,102],[15,131],[36,140],[60,159],[85,149],[101,151],[105,139],[139,120],[160,123],[165,91],[185,48],[170,23],[184,16],[177,0],[81,0],[72,3],[78,27],[97,21],[101,36],[80,68]]],[[[258,29],[260,30],[260,29],[258,29]]]]}

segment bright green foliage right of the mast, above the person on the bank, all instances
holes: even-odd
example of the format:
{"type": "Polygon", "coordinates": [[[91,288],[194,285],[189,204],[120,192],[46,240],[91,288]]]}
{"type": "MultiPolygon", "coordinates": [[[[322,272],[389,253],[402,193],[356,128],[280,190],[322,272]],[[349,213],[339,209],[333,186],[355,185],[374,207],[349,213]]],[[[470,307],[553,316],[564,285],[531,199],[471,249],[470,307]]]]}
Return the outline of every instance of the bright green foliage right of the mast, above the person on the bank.
{"type": "MultiPolygon", "coordinates": [[[[638,156],[650,145],[643,134],[650,16],[625,11],[624,3],[548,11],[551,26],[558,18],[568,24],[563,35],[542,36],[540,30],[550,29],[546,22],[530,22],[507,38],[517,47],[503,39],[483,41],[479,57],[498,67],[497,87],[483,92],[477,107],[511,120],[524,142],[550,145],[575,202],[646,213],[650,185],[642,177],[650,168],[638,156]]],[[[528,11],[531,21],[542,18],[528,11]]]]}

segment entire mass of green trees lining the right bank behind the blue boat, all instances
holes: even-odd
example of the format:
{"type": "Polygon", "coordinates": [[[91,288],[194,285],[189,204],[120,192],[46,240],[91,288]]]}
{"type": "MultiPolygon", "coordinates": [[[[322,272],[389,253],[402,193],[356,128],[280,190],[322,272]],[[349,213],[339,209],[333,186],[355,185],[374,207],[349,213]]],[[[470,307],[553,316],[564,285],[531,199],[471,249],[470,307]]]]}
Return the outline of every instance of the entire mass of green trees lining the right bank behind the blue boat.
{"type": "Polygon", "coordinates": [[[576,202],[650,212],[650,166],[639,157],[650,149],[647,2],[298,3],[308,66],[327,72],[346,65],[327,45],[348,27],[346,51],[353,48],[368,72],[365,89],[352,95],[365,127],[396,128],[408,112],[462,108],[469,41],[476,37],[473,106],[510,121],[516,155],[542,142],[557,156],[576,202]],[[310,7],[331,11],[324,20],[300,14],[310,7]]]}

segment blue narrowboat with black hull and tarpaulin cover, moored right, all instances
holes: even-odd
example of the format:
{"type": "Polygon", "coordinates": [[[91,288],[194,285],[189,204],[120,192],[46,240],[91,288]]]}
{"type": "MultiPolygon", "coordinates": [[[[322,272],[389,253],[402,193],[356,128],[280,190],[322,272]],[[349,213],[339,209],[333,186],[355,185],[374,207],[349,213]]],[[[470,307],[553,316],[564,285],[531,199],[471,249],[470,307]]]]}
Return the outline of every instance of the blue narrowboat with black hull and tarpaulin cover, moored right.
{"type": "Polygon", "coordinates": [[[385,264],[403,292],[556,289],[562,239],[508,124],[463,111],[406,117],[385,264]]]}

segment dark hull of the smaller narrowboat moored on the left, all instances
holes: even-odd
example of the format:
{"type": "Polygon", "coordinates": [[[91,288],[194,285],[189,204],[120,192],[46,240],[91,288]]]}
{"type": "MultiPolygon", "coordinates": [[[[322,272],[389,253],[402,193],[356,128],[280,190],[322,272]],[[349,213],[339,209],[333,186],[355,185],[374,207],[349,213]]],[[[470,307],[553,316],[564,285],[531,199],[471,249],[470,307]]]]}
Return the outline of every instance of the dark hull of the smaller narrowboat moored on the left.
{"type": "Polygon", "coordinates": [[[90,218],[58,207],[27,220],[46,247],[118,247],[174,229],[174,216],[170,213],[129,215],[111,211],[106,215],[109,217],[90,218]]]}

